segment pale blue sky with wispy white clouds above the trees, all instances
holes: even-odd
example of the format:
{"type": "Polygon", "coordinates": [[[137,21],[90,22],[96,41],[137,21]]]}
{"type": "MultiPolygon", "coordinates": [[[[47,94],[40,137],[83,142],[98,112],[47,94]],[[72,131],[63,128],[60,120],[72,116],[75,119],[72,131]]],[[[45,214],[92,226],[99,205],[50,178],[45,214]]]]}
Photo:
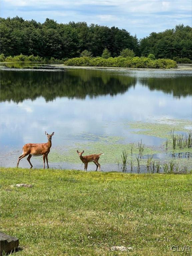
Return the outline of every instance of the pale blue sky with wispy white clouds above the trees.
{"type": "Polygon", "coordinates": [[[191,0],[1,0],[1,17],[86,21],[124,28],[138,38],[183,23],[191,26],[191,0]]]}

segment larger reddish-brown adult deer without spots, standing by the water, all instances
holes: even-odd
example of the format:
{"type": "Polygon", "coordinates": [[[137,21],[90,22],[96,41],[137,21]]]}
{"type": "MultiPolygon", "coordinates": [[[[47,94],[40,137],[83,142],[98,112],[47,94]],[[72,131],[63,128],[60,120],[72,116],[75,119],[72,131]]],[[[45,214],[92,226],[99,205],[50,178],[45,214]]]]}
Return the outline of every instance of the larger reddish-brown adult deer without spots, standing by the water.
{"type": "Polygon", "coordinates": [[[52,134],[48,134],[47,132],[45,132],[45,134],[47,135],[47,138],[48,138],[48,142],[47,143],[28,143],[28,144],[25,144],[23,146],[23,153],[18,158],[17,167],[19,166],[19,161],[22,158],[24,158],[25,156],[29,155],[27,157],[27,161],[30,163],[31,168],[32,168],[33,165],[30,162],[31,157],[32,156],[42,156],[43,155],[43,167],[45,169],[45,158],[46,158],[47,168],[49,169],[48,154],[49,154],[49,151],[50,151],[50,148],[51,148],[51,138],[52,138],[54,132],[52,132],[52,134]]]}

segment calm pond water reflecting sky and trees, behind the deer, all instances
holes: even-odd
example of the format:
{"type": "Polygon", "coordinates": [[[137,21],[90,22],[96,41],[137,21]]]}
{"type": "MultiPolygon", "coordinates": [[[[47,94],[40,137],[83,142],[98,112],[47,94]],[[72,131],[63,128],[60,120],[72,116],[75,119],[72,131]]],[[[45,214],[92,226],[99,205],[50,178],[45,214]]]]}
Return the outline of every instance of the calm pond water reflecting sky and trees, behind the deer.
{"type": "MultiPolygon", "coordinates": [[[[54,131],[50,167],[83,170],[78,149],[85,155],[105,153],[99,161],[102,170],[120,171],[121,145],[142,140],[146,153],[164,160],[172,152],[164,150],[163,127],[182,134],[191,130],[190,71],[3,63],[0,72],[1,166],[16,166],[24,144],[46,142],[45,131],[54,131]],[[148,123],[154,124],[154,134],[147,134],[148,123]]],[[[178,153],[183,155],[176,152],[176,158],[178,153]]],[[[43,166],[41,157],[31,162],[34,168],[43,166]]],[[[19,166],[28,168],[27,159],[19,166]]],[[[88,170],[94,169],[90,163],[88,170]]]]}

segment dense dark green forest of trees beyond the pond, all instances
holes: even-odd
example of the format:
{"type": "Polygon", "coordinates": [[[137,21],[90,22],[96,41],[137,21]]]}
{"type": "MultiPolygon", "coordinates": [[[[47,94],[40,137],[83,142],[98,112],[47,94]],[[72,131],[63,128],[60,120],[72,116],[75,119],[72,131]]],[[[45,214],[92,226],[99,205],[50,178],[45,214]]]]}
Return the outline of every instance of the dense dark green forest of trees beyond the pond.
{"type": "Polygon", "coordinates": [[[107,27],[86,22],[57,23],[46,19],[44,23],[24,20],[21,17],[0,18],[1,54],[16,56],[34,55],[50,59],[68,59],[82,56],[87,50],[93,57],[102,56],[107,49],[111,57],[130,49],[135,56],[155,58],[192,59],[192,28],[177,25],[160,33],[151,33],[141,40],[125,29],[107,27]]]}

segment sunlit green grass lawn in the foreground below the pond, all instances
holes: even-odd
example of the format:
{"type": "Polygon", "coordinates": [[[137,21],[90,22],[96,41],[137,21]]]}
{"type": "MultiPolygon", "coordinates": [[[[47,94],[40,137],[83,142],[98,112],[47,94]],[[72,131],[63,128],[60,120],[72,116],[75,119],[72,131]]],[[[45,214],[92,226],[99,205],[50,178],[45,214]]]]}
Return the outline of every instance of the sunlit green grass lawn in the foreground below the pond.
{"type": "Polygon", "coordinates": [[[192,254],[192,174],[0,168],[0,185],[0,230],[20,240],[12,255],[192,254]]]}

